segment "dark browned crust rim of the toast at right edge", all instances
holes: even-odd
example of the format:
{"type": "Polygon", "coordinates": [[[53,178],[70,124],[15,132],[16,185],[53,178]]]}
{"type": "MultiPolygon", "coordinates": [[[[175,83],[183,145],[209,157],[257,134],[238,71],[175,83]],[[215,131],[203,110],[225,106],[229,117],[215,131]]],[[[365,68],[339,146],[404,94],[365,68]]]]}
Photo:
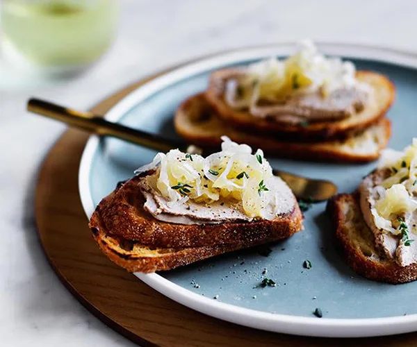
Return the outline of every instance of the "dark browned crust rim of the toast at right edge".
{"type": "Polygon", "coordinates": [[[338,240],[338,244],[341,245],[347,264],[356,273],[370,280],[389,282],[392,284],[416,280],[417,264],[399,266],[393,260],[382,259],[381,261],[375,261],[363,255],[359,249],[352,245],[350,239],[346,237],[345,232],[343,232],[345,225],[341,206],[343,203],[348,203],[352,207],[357,206],[360,210],[358,199],[358,194],[338,194],[330,198],[327,202],[327,214],[332,220],[336,239],[338,240]]]}

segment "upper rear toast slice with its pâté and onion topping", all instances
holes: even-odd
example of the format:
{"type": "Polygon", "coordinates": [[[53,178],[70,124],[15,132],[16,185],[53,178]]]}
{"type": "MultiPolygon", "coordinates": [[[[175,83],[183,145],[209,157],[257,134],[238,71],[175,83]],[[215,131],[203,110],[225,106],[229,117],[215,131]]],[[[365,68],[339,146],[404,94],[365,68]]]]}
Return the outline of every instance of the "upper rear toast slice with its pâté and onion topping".
{"type": "Polygon", "coordinates": [[[316,143],[343,141],[375,126],[391,107],[395,86],[384,74],[324,56],[307,41],[285,59],[213,71],[204,96],[234,129],[316,143]]]}

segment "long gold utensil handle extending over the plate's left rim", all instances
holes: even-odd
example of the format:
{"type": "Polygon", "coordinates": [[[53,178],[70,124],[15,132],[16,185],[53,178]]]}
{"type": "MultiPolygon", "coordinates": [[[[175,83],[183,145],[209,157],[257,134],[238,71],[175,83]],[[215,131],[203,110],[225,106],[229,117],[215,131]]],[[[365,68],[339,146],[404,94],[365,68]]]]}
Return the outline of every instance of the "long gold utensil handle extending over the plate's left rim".
{"type": "Polygon", "coordinates": [[[164,153],[170,151],[170,149],[180,149],[181,151],[190,151],[191,153],[201,152],[201,149],[196,146],[192,147],[186,144],[186,142],[167,139],[160,135],[129,128],[122,124],[106,121],[106,119],[98,117],[92,112],[80,112],[40,99],[30,99],[28,101],[27,109],[38,115],[63,121],[69,126],[81,128],[97,135],[117,137],[118,139],[123,139],[132,142],[133,144],[139,144],[140,146],[164,153]]]}

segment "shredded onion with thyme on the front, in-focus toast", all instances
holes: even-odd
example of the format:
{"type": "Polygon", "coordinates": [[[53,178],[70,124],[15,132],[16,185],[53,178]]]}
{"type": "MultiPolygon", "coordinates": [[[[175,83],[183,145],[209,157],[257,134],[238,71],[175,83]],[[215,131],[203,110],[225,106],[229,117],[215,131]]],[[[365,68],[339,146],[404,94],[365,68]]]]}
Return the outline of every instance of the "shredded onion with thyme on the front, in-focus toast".
{"type": "Polygon", "coordinates": [[[252,154],[250,146],[236,144],[225,136],[222,141],[221,151],[207,158],[178,149],[158,153],[136,174],[158,167],[155,186],[170,203],[193,199],[210,204],[230,199],[241,202],[250,217],[275,218],[280,193],[274,189],[273,180],[277,178],[263,151],[252,154]]]}

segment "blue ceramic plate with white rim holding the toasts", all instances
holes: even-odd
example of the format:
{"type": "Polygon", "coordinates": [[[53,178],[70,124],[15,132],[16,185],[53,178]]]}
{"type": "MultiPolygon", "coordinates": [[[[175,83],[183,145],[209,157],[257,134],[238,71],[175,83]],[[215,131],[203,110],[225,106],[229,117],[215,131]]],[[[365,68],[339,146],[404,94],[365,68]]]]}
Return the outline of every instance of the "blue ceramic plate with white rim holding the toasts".
{"type": "MultiPolygon", "coordinates": [[[[358,69],[391,78],[398,97],[389,111],[390,146],[402,149],[417,136],[417,58],[366,46],[321,44],[325,53],[350,58],[358,69]]],[[[107,119],[175,137],[172,115],[181,101],[205,90],[213,69],[245,65],[268,56],[286,56],[292,44],[232,51],[174,69],[142,85],[108,112],[107,119]]],[[[81,200],[90,215],[120,180],[150,162],[154,151],[117,139],[90,137],[79,172],[81,200]]],[[[272,167],[333,180],[352,192],[375,167],[371,164],[315,164],[270,160],[272,167]]],[[[181,269],[137,276],[195,310],[234,323],[297,335],[364,337],[417,330],[417,282],[387,285],[357,276],[336,252],[325,203],[306,212],[305,230],[270,246],[268,257],[252,249],[215,257],[181,269]],[[309,260],[311,269],[304,269],[309,260]],[[256,287],[263,271],[277,287],[256,287]],[[313,315],[319,307],[323,318],[313,315]]]]}

